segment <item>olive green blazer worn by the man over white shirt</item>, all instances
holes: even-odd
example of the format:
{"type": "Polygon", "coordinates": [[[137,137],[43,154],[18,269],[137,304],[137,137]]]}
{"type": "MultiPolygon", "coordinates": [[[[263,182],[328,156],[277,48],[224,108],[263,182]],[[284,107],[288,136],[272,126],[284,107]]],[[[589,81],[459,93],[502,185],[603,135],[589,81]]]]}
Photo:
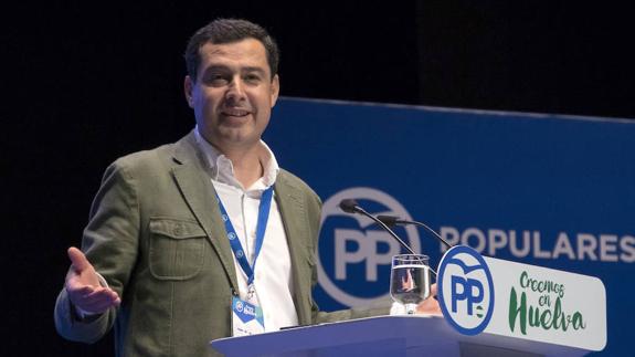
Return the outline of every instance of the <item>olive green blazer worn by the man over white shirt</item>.
{"type": "MultiPolygon", "coordinates": [[[[117,356],[218,356],[209,342],[231,336],[231,297],[239,285],[209,170],[193,132],[106,169],[82,250],[121,296],[121,305],[80,321],[62,290],[55,326],[63,337],[93,343],[114,325],[117,356]]],[[[274,190],[299,324],[387,313],[318,313],[311,288],[317,282],[320,200],[285,170],[274,190]]]]}

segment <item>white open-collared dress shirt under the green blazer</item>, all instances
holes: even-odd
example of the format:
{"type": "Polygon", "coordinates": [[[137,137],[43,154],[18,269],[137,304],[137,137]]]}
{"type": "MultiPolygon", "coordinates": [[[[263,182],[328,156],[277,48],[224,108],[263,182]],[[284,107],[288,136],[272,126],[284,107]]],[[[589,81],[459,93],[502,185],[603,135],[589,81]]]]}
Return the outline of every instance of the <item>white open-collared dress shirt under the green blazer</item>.
{"type": "MultiPolygon", "coordinates": [[[[210,143],[200,135],[198,127],[194,133],[197,141],[211,168],[210,180],[214,185],[214,189],[239,235],[247,261],[253,266],[261,196],[263,191],[274,185],[276,180],[277,172],[279,171],[276,158],[268,146],[261,140],[268,156],[261,161],[264,175],[251,187],[244,188],[234,176],[232,161],[210,145],[210,143]]],[[[274,192],[274,198],[276,192],[274,192]]],[[[226,238],[223,237],[221,239],[226,238]]],[[[246,300],[247,276],[235,256],[234,267],[240,287],[240,296],[246,300]]],[[[295,326],[298,324],[293,301],[294,286],[290,255],[283,220],[275,199],[272,200],[264,242],[254,271],[253,284],[255,287],[255,296],[251,302],[255,300],[255,303],[263,308],[265,332],[278,330],[281,327],[295,326]]],[[[210,286],[210,288],[213,287],[210,286]]]]}

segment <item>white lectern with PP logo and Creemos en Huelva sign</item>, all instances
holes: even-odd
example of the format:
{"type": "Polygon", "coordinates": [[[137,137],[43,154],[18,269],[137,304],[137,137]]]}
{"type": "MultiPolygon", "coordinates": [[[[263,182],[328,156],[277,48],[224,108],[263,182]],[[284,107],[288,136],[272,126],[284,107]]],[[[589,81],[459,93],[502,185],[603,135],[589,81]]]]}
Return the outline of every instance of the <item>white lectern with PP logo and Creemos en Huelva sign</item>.
{"type": "Polygon", "coordinates": [[[606,346],[596,277],[454,246],[437,270],[444,317],[378,316],[213,340],[247,356],[583,356],[606,346]]]}

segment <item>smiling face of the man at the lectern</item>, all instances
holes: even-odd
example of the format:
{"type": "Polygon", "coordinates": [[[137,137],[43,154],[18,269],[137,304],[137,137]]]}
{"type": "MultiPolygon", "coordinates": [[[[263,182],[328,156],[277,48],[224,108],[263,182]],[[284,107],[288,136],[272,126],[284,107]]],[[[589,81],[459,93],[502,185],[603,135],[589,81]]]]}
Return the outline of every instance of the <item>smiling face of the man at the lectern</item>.
{"type": "Polygon", "coordinates": [[[207,43],[194,82],[186,76],[186,97],[203,137],[221,151],[252,148],[267,127],[279,92],[264,45],[255,39],[207,43]]]}

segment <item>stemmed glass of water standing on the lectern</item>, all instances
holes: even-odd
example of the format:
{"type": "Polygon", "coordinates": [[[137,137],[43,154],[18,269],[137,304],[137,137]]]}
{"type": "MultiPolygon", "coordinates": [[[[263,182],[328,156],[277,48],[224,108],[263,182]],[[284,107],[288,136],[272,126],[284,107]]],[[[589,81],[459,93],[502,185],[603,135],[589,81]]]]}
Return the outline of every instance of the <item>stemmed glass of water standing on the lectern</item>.
{"type": "Polygon", "coordinates": [[[409,315],[430,296],[428,258],[423,254],[401,254],[392,258],[390,295],[405,306],[409,315]]]}

